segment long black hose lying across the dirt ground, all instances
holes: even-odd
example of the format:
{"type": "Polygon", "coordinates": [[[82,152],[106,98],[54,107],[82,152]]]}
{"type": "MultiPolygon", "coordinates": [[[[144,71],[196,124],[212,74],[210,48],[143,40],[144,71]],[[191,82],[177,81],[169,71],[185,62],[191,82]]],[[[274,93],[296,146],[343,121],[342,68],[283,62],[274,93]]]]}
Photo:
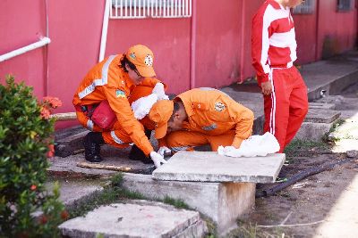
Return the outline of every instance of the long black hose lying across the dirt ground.
{"type": "Polygon", "coordinates": [[[347,160],[341,160],[341,161],[336,162],[336,163],[331,163],[331,164],[328,164],[328,165],[322,165],[322,166],[320,166],[318,168],[309,168],[307,170],[304,170],[301,173],[298,173],[298,174],[292,176],[291,178],[289,178],[284,183],[281,183],[281,184],[279,184],[277,186],[274,186],[274,187],[268,188],[266,190],[262,190],[260,192],[257,192],[255,197],[260,198],[260,197],[271,196],[271,195],[277,193],[278,191],[283,190],[284,188],[286,188],[286,187],[288,187],[290,185],[294,185],[296,182],[302,180],[303,178],[305,178],[307,176],[312,176],[312,175],[318,174],[320,172],[323,172],[325,170],[333,168],[336,165],[344,164],[344,163],[352,161],[352,160],[356,160],[356,158],[350,158],[350,159],[347,159],[347,160]]]}

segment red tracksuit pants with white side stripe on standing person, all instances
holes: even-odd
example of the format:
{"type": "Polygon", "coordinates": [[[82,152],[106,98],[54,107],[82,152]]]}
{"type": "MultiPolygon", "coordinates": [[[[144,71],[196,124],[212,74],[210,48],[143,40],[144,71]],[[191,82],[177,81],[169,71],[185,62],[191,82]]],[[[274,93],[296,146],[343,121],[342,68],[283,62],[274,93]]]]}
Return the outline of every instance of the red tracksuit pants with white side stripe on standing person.
{"type": "Polygon", "coordinates": [[[272,94],[264,96],[264,132],[275,135],[284,152],[307,114],[307,87],[295,67],[271,69],[269,78],[272,94]]]}

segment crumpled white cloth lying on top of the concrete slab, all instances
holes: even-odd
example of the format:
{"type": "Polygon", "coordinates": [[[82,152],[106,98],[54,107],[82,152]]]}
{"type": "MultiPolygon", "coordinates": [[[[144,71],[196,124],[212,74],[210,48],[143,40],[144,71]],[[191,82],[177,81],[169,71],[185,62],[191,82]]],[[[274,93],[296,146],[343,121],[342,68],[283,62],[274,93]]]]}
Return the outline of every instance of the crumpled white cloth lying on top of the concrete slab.
{"type": "Polygon", "coordinates": [[[217,153],[230,157],[256,157],[266,156],[268,153],[278,152],[280,146],[274,135],[267,132],[264,135],[251,135],[240,145],[239,149],[234,146],[222,146],[217,149],[217,153]]]}

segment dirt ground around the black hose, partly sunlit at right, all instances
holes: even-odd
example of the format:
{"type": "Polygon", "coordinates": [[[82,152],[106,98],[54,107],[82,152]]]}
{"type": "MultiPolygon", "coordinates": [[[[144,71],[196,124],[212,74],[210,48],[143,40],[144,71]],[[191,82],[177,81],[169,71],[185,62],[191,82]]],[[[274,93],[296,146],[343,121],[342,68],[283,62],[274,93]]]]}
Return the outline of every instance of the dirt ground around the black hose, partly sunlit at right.
{"type": "MultiPolygon", "coordinates": [[[[303,142],[287,153],[279,178],[320,165],[346,160],[346,151],[358,150],[358,84],[321,103],[335,103],[341,125],[335,143],[303,142]]],[[[269,197],[256,199],[251,215],[238,221],[228,237],[358,237],[358,156],[355,160],[308,176],[269,197]]],[[[277,185],[258,185],[257,190],[277,185]]]]}

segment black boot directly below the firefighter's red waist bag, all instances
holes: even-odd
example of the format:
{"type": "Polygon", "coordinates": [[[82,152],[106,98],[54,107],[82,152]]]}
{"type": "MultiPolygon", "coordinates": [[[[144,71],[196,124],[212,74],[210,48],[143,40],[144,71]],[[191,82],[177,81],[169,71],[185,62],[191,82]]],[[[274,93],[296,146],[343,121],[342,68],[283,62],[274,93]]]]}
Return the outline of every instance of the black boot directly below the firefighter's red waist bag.
{"type": "Polygon", "coordinates": [[[83,138],[84,157],[91,163],[102,161],[100,156],[100,145],[105,144],[102,133],[90,132],[83,138]]]}

